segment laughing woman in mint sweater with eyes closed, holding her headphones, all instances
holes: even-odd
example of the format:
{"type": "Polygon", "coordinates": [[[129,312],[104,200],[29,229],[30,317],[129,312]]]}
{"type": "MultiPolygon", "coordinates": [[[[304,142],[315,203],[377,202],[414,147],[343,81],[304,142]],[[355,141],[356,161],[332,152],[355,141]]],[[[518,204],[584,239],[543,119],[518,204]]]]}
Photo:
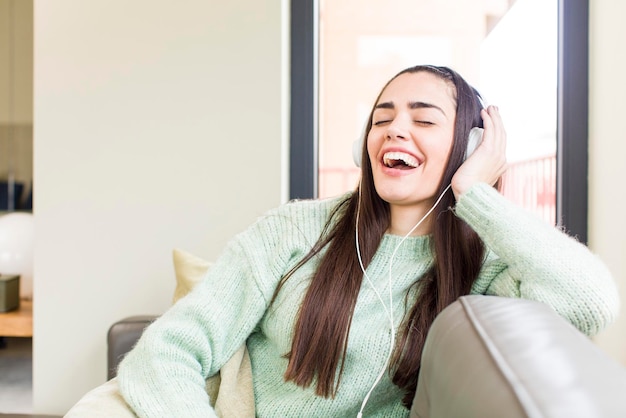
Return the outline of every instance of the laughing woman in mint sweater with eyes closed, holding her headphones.
{"type": "Polygon", "coordinates": [[[456,72],[400,72],[366,131],[355,192],[270,211],[146,330],[118,374],[137,415],[214,416],[205,378],[245,343],[258,416],[408,416],[426,333],[468,293],[547,303],[588,335],[614,320],[602,262],[494,189],[502,120],[456,72]]]}

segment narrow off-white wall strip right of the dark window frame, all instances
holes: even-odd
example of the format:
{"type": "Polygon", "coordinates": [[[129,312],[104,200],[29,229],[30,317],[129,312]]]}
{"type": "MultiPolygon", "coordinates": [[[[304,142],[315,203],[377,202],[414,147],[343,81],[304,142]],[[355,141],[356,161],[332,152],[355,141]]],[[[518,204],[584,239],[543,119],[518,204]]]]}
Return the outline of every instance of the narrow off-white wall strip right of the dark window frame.
{"type": "Polygon", "coordinates": [[[589,246],[613,272],[622,299],[618,321],[597,342],[626,365],[625,15],[626,2],[590,1],[589,246]]]}

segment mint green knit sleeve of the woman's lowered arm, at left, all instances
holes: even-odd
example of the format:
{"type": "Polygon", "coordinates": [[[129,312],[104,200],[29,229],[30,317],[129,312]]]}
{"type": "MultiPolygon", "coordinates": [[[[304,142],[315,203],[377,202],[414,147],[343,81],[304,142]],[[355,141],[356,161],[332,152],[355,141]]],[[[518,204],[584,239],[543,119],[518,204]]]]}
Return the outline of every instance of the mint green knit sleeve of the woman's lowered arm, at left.
{"type": "Polygon", "coordinates": [[[205,389],[264,315],[293,254],[288,217],[265,216],[236,236],[207,276],[150,325],[120,364],[139,417],[214,417],[205,389]]]}

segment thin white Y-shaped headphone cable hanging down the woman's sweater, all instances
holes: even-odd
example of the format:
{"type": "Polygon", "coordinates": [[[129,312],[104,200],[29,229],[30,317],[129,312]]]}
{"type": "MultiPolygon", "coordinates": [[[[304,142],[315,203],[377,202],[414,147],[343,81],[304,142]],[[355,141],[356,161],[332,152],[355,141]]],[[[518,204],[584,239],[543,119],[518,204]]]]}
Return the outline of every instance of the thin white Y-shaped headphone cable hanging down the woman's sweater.
{"type": "Polygon", "coordinates": [[[443,190],[443,192],[441,192],[441,194],[439,195],[439,198],[437,198],[437,201],[433,204],[433,206],[428,210],[428,212],[426,212],[426,214],[422,217],[422,219],[420,219],[419,222],[417,222],[413,226],[413,228],[411,228],[409,230],[409,232],[407,232],[407,234],[404,235],[404,237],[400,240],[398,245],[396,245],[396,248],[394,249],[393,253],[391,254],[391,258],[389,259],[389,279],[388,279],[389,280],[389,308],[387,308],[387,304],[385,304],[385,302],[383,301],[382,296],[380,295],[380,293],[378,292],[378,290],[374,286],[374,283],[372,282],[372,280],[368,276],[367,272],[365,271],[365,267],[363,266],[363,260],[361,259],[361,250],[359,248],[359,214],[361,212],[361,185],[359,184],[359,191],[358,191],[359,192],[359,196],[358,196],[359,197],[359,201],[357,203],[356,226],[354,228],[354,230],[355,230],[354,238],[355,238],[355,245],[356,245],[356,254],[357,254],[357,258],[359,260],[359,265],[361,266],[361,271],[363,271],[363,276],[365,277],[367,283],[370,285],[372,290],[374,290],[374,293],[376,293],[376,296],[378,297],[378,300],[380,300],[381,305],[383,305],[383,308],[385,309],[385,313],[387,314],[387,318],[389,319],[389,324],[391,326],[391,344],[390,344],[389,352],[387,353],[387,359],[385,360],[385,364],[384,364],[382,370],[380,371],[380,373],[378,374],[378,377],[374,381],[374,384],[372,385],[370,390],[367,392],[367,395],[365,395],[365,398],[363,399],[363,402],[361,403],[361,409],[359,410],[359,413],[357,414],[357,418],[362,418],[363,417],[363,410],[365,409],[365,405],[367,404],[367,401],[369,400],[372,392],[374,391],[374,388],[376,388],[378,383],[380,383],[380,380],[382,379],[383,375],[385,374],[385,371],[387,370],[387,367],[389,366],[389,361],[391,360],[391,355],[393,354],[393,349],[394,349],[394,347],[396,345],[396,331],[395,331],[395,325],[394,325],[394,320],[393,320],[393,291],[392,291],[392,283],[391,283],[391,271],[392,271],[393,259],[395,258],[396,252],[398,251],[398,249],[400,248],[402,243],[413,233],[413,231],[415,231],[415,229],[417,229],[417,227],[424,221],[424,219],[426,219],[428,217],[428,215],[430,215],[432,213],[432,211],[435,210],[435,208],[437,207],[437,205],[439,204],[441,199],[443,199],[443,196],[446,194],[446,192],[448,191],[450,186],[451,186],[451,184],[449,184],[443,190]]]}

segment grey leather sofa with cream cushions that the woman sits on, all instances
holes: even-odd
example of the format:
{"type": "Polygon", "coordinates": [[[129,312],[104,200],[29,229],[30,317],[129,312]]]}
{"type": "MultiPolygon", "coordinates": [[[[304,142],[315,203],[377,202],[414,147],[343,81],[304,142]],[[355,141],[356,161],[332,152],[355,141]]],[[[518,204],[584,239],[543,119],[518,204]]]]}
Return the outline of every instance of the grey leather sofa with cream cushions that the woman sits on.
{"type": "MultiPolygon", "coordinates": [[[[176,300],[210,263],[175,250],[176,300]]],[[[124,318],[108,330],[107,381],[65,415],[134,417],[116,382],[119,361],[156,317],[124,318]]],[[[254,416],[245,346],[207,380],[219,416],[254,416]]],[[[415,418],[624,418],[626,368],[549,306],[525,299],[470,295],[431,326],[410,411],[415,418]]]]}

